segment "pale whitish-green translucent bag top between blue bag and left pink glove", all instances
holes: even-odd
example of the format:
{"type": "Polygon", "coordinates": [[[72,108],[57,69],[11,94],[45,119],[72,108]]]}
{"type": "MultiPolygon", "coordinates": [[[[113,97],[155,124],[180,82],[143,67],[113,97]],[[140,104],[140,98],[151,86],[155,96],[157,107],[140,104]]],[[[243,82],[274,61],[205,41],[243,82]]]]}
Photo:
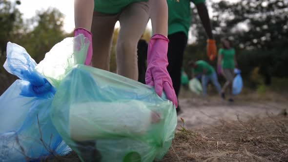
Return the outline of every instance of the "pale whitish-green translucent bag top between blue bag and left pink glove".
{"type": "Polygon", "coordinates": [[[65,38],[45,54],[45,58],[37,64],[35,70],[57,88],[74,65],[84,64],[89,43],[82,34],[65,38]]]}

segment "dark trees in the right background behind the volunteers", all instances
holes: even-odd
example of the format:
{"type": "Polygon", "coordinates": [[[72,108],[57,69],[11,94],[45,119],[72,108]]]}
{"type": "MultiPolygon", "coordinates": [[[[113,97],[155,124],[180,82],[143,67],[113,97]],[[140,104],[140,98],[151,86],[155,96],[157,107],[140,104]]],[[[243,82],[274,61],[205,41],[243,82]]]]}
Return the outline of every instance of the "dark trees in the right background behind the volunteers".
{"type": "MultiPolygon", "coordinates": [[[[218,48],[223,37],[232,42],[244,77],[249,77],[255,67],[260,67],[258,72],[266,83],[271,82],[271,76],[288,76],[284,70],[288,68],[288,0],[207,2],[213,10],[210,16],[218,48]]],[[[196,42],[188,45],[185,58],[206,59],[205,30],[196,9],[192,14],[191,29],[196,42]]],[[[215,61],[210,63],[216,65],[215,61]]]]}

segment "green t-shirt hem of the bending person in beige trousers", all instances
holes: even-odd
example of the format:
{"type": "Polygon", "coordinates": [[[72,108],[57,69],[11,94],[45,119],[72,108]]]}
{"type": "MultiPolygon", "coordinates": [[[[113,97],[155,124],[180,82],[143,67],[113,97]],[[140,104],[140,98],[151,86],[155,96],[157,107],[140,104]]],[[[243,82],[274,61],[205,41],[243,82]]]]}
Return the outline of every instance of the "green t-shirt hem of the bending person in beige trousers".
{"type": "Polygon", "coordinates": [[[117,14],[123,10],[124,7],[136,1],[148,0],[94,0],[94,11],[117,14]]]}

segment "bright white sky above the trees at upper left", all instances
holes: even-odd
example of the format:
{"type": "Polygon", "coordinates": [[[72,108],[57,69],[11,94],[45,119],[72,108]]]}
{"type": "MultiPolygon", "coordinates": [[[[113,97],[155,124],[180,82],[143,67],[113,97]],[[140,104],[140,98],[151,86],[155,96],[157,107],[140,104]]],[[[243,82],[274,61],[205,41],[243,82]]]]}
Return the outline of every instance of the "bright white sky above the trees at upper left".
{"type": "MultiPolygon", "coordinates": [[[[10,0],[15,2],[16,0],[10,0]]],[[[219,0],[213,0],[219,1],[219,0]]],[[[235,0],[230,0],[235,1],[235,0]]],[[[36,15],[37,10],[45,10],[49,7],[58,8],[65,16],[64,30],[72,32],[74,25],[74,0],[21,0],[21,5],[18,5],[19,10],[23,13],[24,19],[32,18],[36,15]]],[[[210,11],[210,9],[209,9],[210,11]]],[[[116,23],[119,27],[119,22],[116,23]]],[[[151,21],[148,22],[148,27],[151,28],[151,21]]]]}

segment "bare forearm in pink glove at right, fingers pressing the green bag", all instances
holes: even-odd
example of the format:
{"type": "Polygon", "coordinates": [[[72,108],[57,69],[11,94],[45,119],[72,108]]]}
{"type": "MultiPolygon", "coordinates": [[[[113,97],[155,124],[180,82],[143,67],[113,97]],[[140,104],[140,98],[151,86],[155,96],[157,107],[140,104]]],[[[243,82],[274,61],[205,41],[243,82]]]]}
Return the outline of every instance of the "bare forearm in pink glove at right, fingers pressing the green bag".
{"type": "Polygon", "coordinates": [[[168,59],[168,6],[166,0],[149,0],[150,18],[155,35],[148,44],[146,84],[155,86],[156,93],[161,96],[163,90],[167,99],[177,107],[177,97],[172,80],[167,71],[168,59]]]}

